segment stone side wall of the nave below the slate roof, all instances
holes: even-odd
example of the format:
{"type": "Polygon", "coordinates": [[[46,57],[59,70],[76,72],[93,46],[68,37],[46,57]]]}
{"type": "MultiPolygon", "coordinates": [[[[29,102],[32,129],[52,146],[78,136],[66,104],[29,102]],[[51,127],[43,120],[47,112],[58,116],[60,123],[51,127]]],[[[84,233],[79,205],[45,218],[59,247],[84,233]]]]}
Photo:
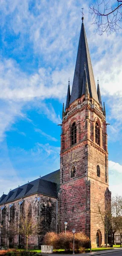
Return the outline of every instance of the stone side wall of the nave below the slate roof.
{"type": "Polygon", "coordinates": [[[25,247],[26,246],[26,239],[22,236],[13,236],[9,233],[9,211],[11,208],[9,208],[9,205],[14,203],[14,220],[18,220],[19,216],[19,207],[25,208],[31,205],[32,208],[32,220],[37,221],[39,216],[43,216],[44,219],[42,221],[42,231],[40,236],[34,236],[32,235],[29,238],[29,247],[40,247],[44,238],[44,235],[48,231],[57,231],[57,215],[58,215],[58,201],[56,198],[52,198],[46,195],[30,195],[26,198],[23,198],[23,203],[19,205],[19,202],[21,199],[9,202],[5,204],[5,208],[3,210],[0,210],[0,221],[2,221],[2,227],[1,227],[1,234],[0,234],[0,240],[1,245],[6,246],[19,246],[19,247],[25,247]]]}

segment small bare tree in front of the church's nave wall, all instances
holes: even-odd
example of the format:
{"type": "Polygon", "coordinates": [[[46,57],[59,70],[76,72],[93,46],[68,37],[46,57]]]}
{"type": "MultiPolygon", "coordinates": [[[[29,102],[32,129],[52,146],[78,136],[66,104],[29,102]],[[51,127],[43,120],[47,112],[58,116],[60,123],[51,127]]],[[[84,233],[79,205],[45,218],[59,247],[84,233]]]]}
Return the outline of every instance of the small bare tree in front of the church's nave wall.
{"type": "Polygon", "coordinates": [[[38,219],[32,218],[31,206],[24,207],[23,212],[19,214],[18,220],[13,219],[9,224],[9,230],[17,235],[22,235],[26,238],[26,250],[28,250],[28,240],[32,235],[38,236],[41,234],[43,217],[38,219]]]}

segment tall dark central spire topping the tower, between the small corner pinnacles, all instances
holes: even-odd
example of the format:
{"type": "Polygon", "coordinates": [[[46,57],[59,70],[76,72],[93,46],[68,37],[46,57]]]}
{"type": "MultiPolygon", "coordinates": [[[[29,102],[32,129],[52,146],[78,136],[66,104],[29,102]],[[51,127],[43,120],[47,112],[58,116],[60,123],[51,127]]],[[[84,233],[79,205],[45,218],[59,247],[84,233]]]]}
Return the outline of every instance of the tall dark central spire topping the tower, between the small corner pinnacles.
{"type": "Polygon", "coordinates": [[[96,102],[99,103],[83,20],[84,18],[82,17],[81,33],[78,44],[78,53],[76,59],[72,93],[70,97],[70,104],[74,102],[76,99],[80,98],[84,93],[84,63],[86,64],[87,84],[89,88],[90,97],[93,97],[93,99],[95,99],[96,102]]]}

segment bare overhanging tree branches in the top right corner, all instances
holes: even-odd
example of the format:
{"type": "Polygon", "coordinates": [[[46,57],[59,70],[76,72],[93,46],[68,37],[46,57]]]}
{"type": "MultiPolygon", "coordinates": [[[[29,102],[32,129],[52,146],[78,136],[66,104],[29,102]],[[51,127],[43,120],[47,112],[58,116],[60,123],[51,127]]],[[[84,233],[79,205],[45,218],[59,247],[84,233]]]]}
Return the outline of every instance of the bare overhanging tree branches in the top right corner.
{"type": "Polygon", "coordinates": [[[114,0],[113,6],[110,0],[96,0],[91,4],[90,13],[93,16],[93,24],[96,24],[96,32],[102,35],[104,32],[116,32],[122,21],[122,0],[114,0]],[[116,2],[115,2],[116,1],[116,2]]]}

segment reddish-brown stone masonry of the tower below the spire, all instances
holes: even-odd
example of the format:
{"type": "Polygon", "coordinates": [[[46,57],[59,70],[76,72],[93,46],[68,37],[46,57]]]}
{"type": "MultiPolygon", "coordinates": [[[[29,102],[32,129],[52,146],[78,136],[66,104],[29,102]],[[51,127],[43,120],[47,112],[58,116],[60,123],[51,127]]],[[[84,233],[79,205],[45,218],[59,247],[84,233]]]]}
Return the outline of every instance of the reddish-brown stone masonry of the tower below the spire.
{"type": "MultiPolygon", "coordinates": [[[[98,204],[105,207],[105,193],[108,190],[108,154],[105,118],[102,109],[93,99],[85,101],[84,106],[76,108],[83,97],[73,102],[67,109],[67,119],[62,122],[61,135],[61,194],[60,194],[60,227],[64,230],[73,227],[82,230],[90,237],[92,246],[96,247],[96,234],[99,233],[100,244],[105,243],[105,230],[99,214],[98,204]],[[70,115],[68,112],[70,111],[70,115]],[[76,122],[77,143],[71,145],[71,125],[76,122]],[[99,123],[100,145],[96,144],[95,124],[99,123]],[[100,167],[100,177],[96,167],[100,167]],[[71,169],[75,166],[75,177],[71,169]]],[[[108,190],[109,191],[109,190],[108,190]]],[[[109,192],[110,194],[110,192],[109,192]]]]}

